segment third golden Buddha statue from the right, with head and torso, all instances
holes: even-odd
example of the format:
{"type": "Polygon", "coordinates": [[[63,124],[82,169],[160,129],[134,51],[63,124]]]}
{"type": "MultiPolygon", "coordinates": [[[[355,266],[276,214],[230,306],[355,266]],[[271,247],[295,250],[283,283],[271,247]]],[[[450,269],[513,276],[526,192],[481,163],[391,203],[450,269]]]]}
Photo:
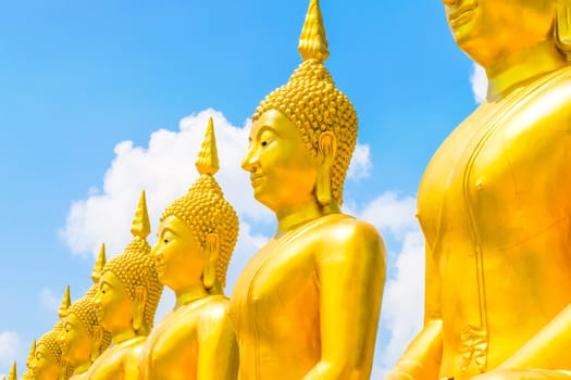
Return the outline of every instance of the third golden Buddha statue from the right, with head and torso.
{"type": "Polygon", "coordinates": [[[141,379],[236,379],[238,349],[223,289],[238,236],[238,217],[214,174],[212,118],[196,164],[200,177],[161,216],[151,257],[176,305],[141,352],[141,379]]]}

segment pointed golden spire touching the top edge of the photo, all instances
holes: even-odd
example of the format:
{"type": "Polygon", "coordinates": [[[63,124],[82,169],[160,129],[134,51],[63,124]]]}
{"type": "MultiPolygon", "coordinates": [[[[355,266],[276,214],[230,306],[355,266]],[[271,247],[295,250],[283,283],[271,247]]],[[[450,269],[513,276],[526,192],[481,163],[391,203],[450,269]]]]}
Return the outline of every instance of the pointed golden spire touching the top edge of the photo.
{"type": "Polygon", "coordinates": [[[330,56],[330,48],[325,28],[323,27],[323,17],[319,0],[310,0],[306,22],[299,36],[299,46],[297,48],[303,61],[318,60],[323,63],[330,56]]]}

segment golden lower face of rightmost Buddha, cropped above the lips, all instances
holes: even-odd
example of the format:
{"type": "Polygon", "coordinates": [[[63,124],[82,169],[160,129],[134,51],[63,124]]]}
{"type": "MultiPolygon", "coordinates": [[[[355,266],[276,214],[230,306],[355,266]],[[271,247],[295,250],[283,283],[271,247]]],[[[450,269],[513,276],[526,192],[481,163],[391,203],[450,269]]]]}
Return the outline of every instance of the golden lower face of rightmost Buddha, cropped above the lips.
{"type": "Polygon", "coordinates": [[[458,46],[484,66],[550,38],[556,0],[443,0],[458,46]]]}

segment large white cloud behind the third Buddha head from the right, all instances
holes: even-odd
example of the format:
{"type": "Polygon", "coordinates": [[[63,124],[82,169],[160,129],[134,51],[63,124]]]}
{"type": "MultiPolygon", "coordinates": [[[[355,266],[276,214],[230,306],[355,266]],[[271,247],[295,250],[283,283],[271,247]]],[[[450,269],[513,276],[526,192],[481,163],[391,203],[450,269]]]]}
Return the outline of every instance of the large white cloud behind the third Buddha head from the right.
{"type": "Polygon", "coordinates": [[[134,147],[132,141],[116,144],[102,190],[91,188],[86,200],[73,202],[60,231],[72,252],[95,256],[104,242],[109,257],[121,253],[132,239],[129,228],[141,190],[147,194],[152,242],[164,207],[183,195],[198,177],[195,162],[210,116],[221,166],[216,180],[226,199],[240,216],[270,221],[271,213],[253,200],[248,175],[240,168],[250,122],[235,127],[222,113],[209,109],[183,118],[178,131],[153,132],[148,148],[134,147]]]}

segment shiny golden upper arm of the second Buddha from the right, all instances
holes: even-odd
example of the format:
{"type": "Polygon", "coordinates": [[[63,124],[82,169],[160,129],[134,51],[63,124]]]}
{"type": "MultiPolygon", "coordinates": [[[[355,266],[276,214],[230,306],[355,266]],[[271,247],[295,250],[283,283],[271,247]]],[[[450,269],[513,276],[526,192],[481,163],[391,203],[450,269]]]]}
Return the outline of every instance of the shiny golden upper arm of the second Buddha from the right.
{"type": "Polygon", "coordinates": [[[360,221],[337,226],[318,257],[322,356],[358,365],[367,338],[376,331],[385,282],[385,248],[376,230],[360,221]]]}

